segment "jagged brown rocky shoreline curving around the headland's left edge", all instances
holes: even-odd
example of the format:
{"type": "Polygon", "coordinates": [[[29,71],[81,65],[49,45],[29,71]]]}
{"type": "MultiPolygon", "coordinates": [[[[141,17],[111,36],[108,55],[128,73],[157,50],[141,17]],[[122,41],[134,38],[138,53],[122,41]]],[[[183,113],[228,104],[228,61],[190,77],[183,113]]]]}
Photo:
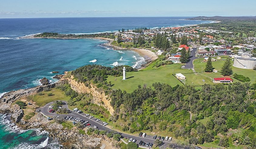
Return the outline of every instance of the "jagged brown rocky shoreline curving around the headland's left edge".
{"type": "MultiPolygon", "coordinates": [[[[58,78],[62,78],[65,75],[56,75],[58,78]]],[[[77,128],[63,128],[61,124],[57,122],[51,123],[48,121],[42,113],[36,113],[35,116],[28,120],[24,120],[24,112],[21,107],[15,102],[29,95],[42,92],[47,89],[52,89],[56,85],[64,83],[65,80],[61,79],[57,83],[37,86],[29,89],[19,89],[17,91],[10,91],[5,93],[0,98],[0,113],[11,113],[11,120],[18,125],[19,128],[24,130],[32,128],[41,128],[47,131],[48,136],[52,139],[56,139],[62,145],[62,148],[66,149],[90,149],[99,148],[101,146],[102,137],[100,136],[88,136],[86,134],[79,133],[77,128]]],[[[84,128],[86,132],[86,128],[84,128]]]]}

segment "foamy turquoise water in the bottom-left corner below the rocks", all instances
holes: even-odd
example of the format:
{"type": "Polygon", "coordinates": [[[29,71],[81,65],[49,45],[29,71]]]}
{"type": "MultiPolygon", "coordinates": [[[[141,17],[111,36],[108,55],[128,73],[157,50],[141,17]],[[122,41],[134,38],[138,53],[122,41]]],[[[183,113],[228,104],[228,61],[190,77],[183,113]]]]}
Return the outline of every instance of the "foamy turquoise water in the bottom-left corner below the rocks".
{"type": "Polygon", "coordinates": [[[10,114],[0,114],[0,149],[59,148],[41,129],[22,130],[10,121],[10,114]]]}

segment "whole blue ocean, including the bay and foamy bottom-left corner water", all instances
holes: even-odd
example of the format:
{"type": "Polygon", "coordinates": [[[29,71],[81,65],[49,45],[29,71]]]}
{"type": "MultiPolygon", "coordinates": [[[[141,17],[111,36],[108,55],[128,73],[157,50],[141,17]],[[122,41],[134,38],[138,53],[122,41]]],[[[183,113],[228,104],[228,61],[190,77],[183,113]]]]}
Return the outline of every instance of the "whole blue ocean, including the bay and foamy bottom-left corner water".
{"type": "MultiPolygon", "coordinates": [[[[186,18],[188,17],[0,19],[0,97],[3,93],[11,90],[38,86],[40,85],[39,79],[43,77],[55,82],[57,80],[52,78],[55,76],[51,73],[52,71],[63,74],[64,71],[74,70],[88,64],[129,65],[139,68],[145,63],[144,58],[134,51],[116,51],[101,46],[107,42],[105,40],[20,39],[18,37],[43,32],[93,34],[118,31],[122,28],[127,30],[138,27],[177,27],[211,22],[185,20],[186,18]]],[[[45,146],[51,144],[51,141],[48,141],[47,133],[37,134],[37,129],[24,132],[9,131],[10,125],[2,123],[3,118],[1,119],[1,117],[8,119],[8,116],[0,115],[0,144],[4,144],[1,146],[2,148],[22,148],[24,143],[27,146],[29,144],[43,148],[40,144],[46,140],[45,146]],[[26,141],[30,138],[32,141],[26,141]]],[[[34,146],[32,148],[36,148],[34,146]]],[[[47,146],[47,148],[51,147],[47,146]]]]}

